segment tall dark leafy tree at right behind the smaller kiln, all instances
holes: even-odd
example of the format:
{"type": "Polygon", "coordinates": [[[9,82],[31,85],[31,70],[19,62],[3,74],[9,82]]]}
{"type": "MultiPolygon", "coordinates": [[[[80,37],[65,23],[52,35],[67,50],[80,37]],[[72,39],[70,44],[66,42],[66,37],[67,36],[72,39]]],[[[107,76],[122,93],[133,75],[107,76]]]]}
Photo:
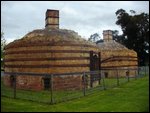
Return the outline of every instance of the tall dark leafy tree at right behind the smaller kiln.
{"type": "Polygon", "coordinates": [[[125,10],[116,11],[116,24],[121,26],[123,35],[120,41],[129,49],[137,52],[139,65],[144,65],[149,58],[149,14],[136,14],[130,10],[131,15],[125,10]]]}

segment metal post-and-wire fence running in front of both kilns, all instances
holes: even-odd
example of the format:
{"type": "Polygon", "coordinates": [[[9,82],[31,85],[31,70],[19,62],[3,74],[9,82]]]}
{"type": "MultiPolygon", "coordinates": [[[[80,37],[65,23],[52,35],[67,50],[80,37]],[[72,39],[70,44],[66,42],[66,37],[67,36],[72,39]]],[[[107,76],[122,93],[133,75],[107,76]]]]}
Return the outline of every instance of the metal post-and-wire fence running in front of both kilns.
{"type": "Polygon", "coordinates": [[[1,96],[54,104],[80,98],[95,92],[100,93],[100,90],[107,90],[139,79],[149,75],[149,67],[103,69],[64,74],[5,74],[11,74],[9,81],[12,79],[13,82],[6,85],[5,75],[1,77],[1,96]],[[25,82],[21,81],[25,81],[26,77],[28,77],[28,81],[25,84],[25,82]],[[39,84],[34,84],[34,82],[38,83],[38,81],[40,81],[39,84]]]}

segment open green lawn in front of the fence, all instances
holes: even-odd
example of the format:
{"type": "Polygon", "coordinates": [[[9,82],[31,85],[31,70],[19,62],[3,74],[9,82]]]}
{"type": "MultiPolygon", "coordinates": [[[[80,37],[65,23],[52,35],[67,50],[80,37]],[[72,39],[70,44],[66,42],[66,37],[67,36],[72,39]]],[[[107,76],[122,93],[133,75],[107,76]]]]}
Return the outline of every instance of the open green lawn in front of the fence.
{"type": "Polygon", "coordinates": [[[54,105],[1,98],[1,111],[106,111],[148,112],[148,76],[119,87],[95,92],[94,94],[54,105]]]}

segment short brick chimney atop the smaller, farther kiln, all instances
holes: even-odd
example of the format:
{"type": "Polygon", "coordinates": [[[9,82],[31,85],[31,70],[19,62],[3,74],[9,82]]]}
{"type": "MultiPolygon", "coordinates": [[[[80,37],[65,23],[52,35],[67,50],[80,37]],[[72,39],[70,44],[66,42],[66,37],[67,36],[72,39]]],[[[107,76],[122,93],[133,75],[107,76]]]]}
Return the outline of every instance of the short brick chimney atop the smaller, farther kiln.
{"type": "Polygon", "coordinates": [[[104,42],[112,41],[113,40],[112,31],[111,30],[104,30],[103,31],[103,39],[104,39],[104,42]]]}

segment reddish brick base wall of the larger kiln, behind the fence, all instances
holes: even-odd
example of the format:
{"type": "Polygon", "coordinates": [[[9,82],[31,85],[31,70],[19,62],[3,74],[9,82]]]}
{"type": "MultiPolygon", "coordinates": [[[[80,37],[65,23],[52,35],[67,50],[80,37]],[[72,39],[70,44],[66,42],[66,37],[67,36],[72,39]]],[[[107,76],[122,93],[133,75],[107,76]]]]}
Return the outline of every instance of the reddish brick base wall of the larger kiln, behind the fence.
{"type": "MultiPolygon", "coordinates": [[[[50,79],[49,79],[50,80],[50,79]]],[[[4,84],[13,87],[10,75],[4,76],[4,84]]],[[[50,85],[50,82],[49,82],[50,85]]],[[[44,77],[42,76],[17,76],[17,89],[44,90],[44,77]]],[[[49,86],[50,87],[50,86],[49,86]]],[[[77,90],[82,89],[82,76],[54,76],[53,90],[77,90]]]]}

